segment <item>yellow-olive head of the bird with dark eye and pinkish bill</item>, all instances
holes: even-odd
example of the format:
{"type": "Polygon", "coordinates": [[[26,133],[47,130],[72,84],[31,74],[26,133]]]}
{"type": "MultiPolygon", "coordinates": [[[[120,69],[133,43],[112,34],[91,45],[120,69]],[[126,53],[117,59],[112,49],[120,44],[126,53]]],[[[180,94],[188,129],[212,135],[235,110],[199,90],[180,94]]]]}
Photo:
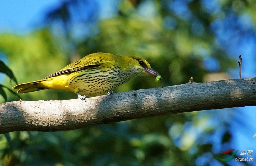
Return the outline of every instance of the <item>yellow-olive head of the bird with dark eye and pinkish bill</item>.
{"type": "Polygon", "coordinates": [[[157,71],[151,68],[150,64],[143,58],[140,57],[128,57],[129,68],[136,76],[152,75],[157,77],[160,75],[157,71]]]}

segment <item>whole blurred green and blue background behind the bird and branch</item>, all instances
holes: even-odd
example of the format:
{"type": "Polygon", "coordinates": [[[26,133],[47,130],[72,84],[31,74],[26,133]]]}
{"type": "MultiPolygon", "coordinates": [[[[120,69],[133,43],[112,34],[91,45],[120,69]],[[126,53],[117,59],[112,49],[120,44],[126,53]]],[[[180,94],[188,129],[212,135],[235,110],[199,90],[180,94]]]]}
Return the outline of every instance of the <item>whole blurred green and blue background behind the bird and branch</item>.
{"type": "MultiPolygon", "coordinates": [[[[240,54],[242,78],[256,77],[255,9],[254,0],[1,0],[0,60],[18,83],[42,79],[94,52],[142,57],[163,76],[159,84],[133,78],[114,92],[184,84],[190,77],[238,78],[240,54]]],[[[4,74],[0,84],[15,85],[4,74]]],[[[8,101],[19,100],[6,93],[8,101]]],[[[77,98],[52,89],[21,97],[77,98]]],[[[0,165],[255,165],[215,158],[237,149],[235,157],[253,150],[256,160],[255,111],[206,110],[66,132],[2,134],[0,165]]]]}

